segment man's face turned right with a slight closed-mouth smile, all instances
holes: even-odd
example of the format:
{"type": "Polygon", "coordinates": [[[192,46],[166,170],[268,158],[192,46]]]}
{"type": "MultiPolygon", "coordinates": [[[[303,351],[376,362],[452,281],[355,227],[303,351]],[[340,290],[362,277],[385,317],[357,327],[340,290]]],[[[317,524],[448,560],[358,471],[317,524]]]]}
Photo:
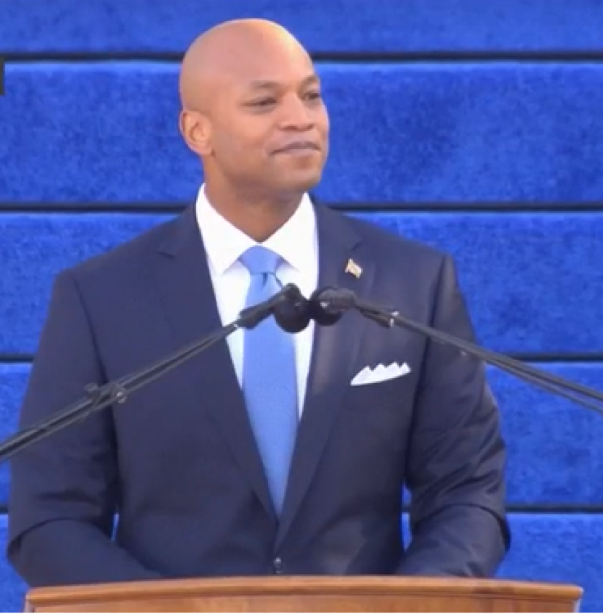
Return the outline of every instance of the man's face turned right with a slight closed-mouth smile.
{"type": "Polygon", "coordinates": [[[214,94],[210,149],[224,176],[268,192],[306,191],[319,182],[329,118],[303,50],[238,56],[214,94]]]}

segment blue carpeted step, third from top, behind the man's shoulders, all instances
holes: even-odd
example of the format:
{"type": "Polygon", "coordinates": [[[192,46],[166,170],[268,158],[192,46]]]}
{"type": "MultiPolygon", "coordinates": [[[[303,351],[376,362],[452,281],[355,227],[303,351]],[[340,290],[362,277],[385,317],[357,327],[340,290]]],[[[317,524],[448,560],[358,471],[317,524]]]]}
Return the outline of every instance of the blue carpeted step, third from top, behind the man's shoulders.
{"type": "MultiPolygon", "coordinates": [[[[603,269],[593,257],[603,254],[603,214],[362,217],[454,254],[479,338],[489,348],[550,355],[602,351],[603,269]]],[[[58,270],[169,218],[0,215],[0,355],[34,352],[58,270]]]]}

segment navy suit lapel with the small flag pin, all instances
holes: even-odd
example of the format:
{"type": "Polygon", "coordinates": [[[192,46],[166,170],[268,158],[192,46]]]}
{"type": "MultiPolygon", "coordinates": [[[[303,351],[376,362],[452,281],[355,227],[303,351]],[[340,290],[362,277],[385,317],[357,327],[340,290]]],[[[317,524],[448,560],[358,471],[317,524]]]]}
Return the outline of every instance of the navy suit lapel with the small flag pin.
{"type": "MultiPolygon", "coordinates": [[[[374,264],[360,238],[344,217],[318,205],[319,288],[338,286],[358,296],[370,296],[374,264]],[[352,259],[360,265],[359,276],[346,272],[352,259]]],[[[358,272],[356,272],[358,273],[358,272]]],[[[350,311],[336,324],[315,329],[312,362],[302,420],[299,423],[291,473],[277,538],[277,549],[291,527],[295,514],[317,470],[330,430],[341,411],[352,364],[358,355],[366,319],[350,311]]]]}

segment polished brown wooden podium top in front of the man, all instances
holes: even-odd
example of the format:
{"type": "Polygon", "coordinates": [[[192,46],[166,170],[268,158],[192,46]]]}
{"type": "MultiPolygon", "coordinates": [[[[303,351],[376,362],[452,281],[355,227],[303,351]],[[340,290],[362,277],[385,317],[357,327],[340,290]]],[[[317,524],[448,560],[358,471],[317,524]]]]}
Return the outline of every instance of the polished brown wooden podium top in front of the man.
{"type": "Polygon", "coordinates": [[[29,591],[28,612],[574,612],[570,584],[396,577],[204,578],[29,591]]]}

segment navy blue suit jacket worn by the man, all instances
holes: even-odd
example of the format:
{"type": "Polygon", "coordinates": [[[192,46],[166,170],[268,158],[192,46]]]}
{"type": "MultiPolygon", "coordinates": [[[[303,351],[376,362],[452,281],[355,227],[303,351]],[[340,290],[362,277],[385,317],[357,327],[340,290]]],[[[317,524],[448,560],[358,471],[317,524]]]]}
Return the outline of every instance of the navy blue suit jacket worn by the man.
{"type": "MultiPolygon", "coordinates": [[[[473,338],[450,257],[317,205],[319,285],[473,338]],[[348,259],[362,267],[345,273],[348,259]]],[[[193,207],[62,272],[20,425],[220,327],[193,207]]],[[[284,573],[491,576],[508,547],[484,367],[356,313],[317,328],[277,519],[227,344],[18,455],[8,556],[32,586],[284,573]],[[404,377],[350,386],[365,366],[404,377]],[[401,536],[402,486],[413,543],[401,536]],[[114,514],[119,514],[114,541],[114,514]]]]}

